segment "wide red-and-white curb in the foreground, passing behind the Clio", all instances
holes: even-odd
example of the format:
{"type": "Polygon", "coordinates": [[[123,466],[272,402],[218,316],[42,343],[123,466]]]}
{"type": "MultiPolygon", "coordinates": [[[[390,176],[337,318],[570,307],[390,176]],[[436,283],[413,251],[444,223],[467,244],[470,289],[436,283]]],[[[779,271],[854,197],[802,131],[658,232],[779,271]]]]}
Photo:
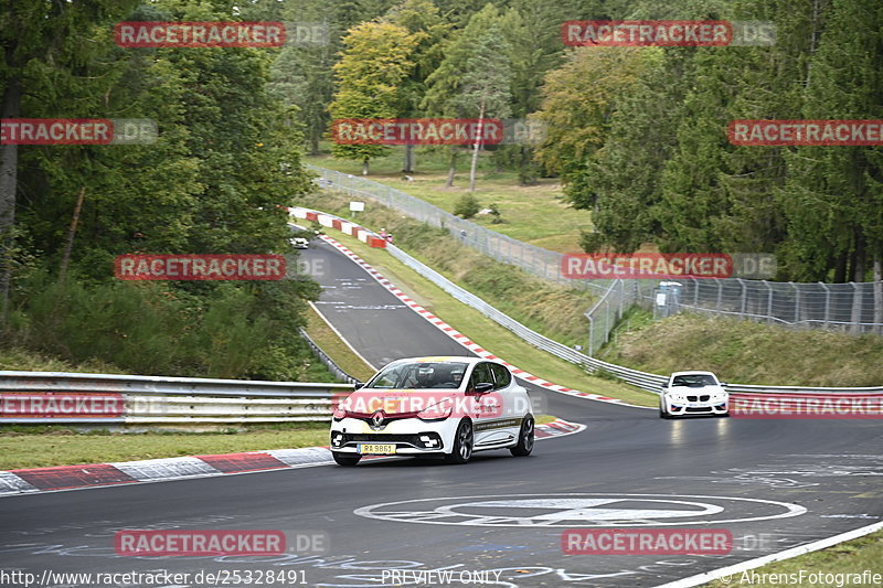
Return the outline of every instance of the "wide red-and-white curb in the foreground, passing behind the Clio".
{"type": "MultiPolygon", "coordinates": [[[[578,423],[556,419],[545,425],[536,425],[534,435],[538,440],[549,439],[574,435],[585,428],[585,425],[578,423]]],[[[0,498],[34,492],[60,492],[85,488],[312,468],[332,463],[334,460],[327,447],[305,447],[86,466],[29,468],[0,471],[0,498]]]]}

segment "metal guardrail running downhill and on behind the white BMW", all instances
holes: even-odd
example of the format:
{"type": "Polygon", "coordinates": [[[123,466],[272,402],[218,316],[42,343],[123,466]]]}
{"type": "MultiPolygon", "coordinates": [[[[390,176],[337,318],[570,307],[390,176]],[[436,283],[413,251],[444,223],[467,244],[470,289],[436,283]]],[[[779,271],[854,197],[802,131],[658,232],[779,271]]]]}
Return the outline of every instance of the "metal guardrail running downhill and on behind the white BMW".
{"type": "MultiPolygon", "coordinates": [[[[309,209],[305,209],[309,210],[309,209]]],[[[312,211],[319,215],[327,216],[329,218],[338,218],[342,220],[339,216],[333,214],[323,213],[320,211],[312,211]]],[[[514,334],[517,334],[522,340],[526,341],[531,345],[535,346],[539,350],[545,351],[546,353],[551,353],[556,357],[560,357],[566,362],[576,364],[582,366],[584,370],[588,372],[606,372],[611,374],[619,379],[626,382],[627,384],[631,384],[632,386],[637,386],[641,389],[647,392],[651,392],[658,394],[661,387],[668,382],[668,376],[659,375],[659,374],[651,374],[648,372],[641,372],[640,370],[632,370],[630,367],[624,367],[621,365],[616,365],[613,363],[604,362],[596,357],[592,357],[584,353],[581,353],[574,349],[568,348],[563,343],[558,343],[557,341],[553,341],[545,335],[529,329],[528,327],[521,324],[515,319],[509,317],[508,314],[501,312],[500,310],[492,307],[487,301],[482,300],[481,298],[475,296],[474,293],[469,292],[468,290],[457,286],[451,280],[436,271],[435,269],[430,268],[423,261],[412,257],[407,253],[403,252],[401,248],[396,247],[395,245],[389,244],[386,246],[386,250],[390,254],[405,264],[407,267],[423,276],[424,278],[428,279],[447,293],[453,296],[455,299],[459,300],[464,304],[467,304],[483,316],[489,318],[490,320],[494,321],[496,323],[509,329],[514,334]]],[[[818,392],[818,393],[880,393],[883,392],[883,386],[880,387],[860,387],[860,388],[823,388],[823,387],[800,387],[800,386],[757,386],[757,385],[749,385],[749,384],[732,384],[727,385],[727,389],[731,392],[743,392],[743,393],[797,393],[797,392],[818,392]]]]}

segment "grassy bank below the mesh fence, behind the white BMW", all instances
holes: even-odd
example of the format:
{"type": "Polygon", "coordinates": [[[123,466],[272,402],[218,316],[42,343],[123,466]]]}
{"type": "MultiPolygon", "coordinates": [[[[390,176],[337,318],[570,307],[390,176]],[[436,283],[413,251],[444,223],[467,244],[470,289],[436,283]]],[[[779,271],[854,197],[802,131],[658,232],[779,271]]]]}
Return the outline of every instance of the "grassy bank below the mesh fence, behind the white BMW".
{"type": "Polygon", "coordinates": [[[664,374],[710,370],[725,382],[802,386],[880,386],[883,338],[696,314],[653,322],[632,311],[602,359],[664,374]]]}

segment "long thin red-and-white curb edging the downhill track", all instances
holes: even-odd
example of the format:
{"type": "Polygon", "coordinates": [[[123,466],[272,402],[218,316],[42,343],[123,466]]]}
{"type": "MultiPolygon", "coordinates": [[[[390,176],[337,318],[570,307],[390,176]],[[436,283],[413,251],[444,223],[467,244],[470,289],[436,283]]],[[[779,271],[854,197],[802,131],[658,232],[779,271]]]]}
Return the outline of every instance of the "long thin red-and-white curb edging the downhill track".
{"type": "MultiPolygon", "coordinates": [[[[320,214],[319,216],[322,216],[322,215],[320,214]]],[[[530,382],[531,384],[535,384],[538,386],[544,387],[546,389],[551,389],[551,391],[554,391],[554,392],[560,392],[562,394],[566,394],[568,396],[576,396],[578,398],[585,398],[585,399],[588,399],[588,400],[597,400],[597,402],[602,402],[602,403],[618,404],[618,405],[621,405],[621,406],[632,406],[632,407],[636,407],[636,408],[648,408],[647,406],[636,406],[636,405],[632,405],[632,404],[628,404],[628,403],[626,403],[624,400],[620,400],[619,398],[610,398],[609,396],[602,396],[600,394],[592,394],[592,393],[588,393],[588,392],[579,392],[579,391],[576,391],[576,389],[573,389],[573,388],[567,388],[565,386],[560,386],[557,384],[553,384],[552,382],[547,382],[547,381],[545,381],[545,379],[543,379],[543,378],[541,378],[539,376],[530,374],[530,373],[525,372],[524,370],[521,370],[521,368],[512,365],[509,362],[503,361],[502,359],[498,357],[497,355],[493,355],[488,350],[486,350],[486,349],[481,348],[480,345],[478,345],[478,343],[475,343],[474,341],[470,341],[468,336],[466,336],[465,334],[460,333],[459,331],[454,329],[451,325],[449,325],[448,323],[446,323],[445,321],[443,321],[442,319],[439,319],[438,317],[436,317],[435,314],[433,314],[432,312],[429,312],[428,310],[426,310],[425,308],[419,306],[417,302],[415,302],[414,300],[408,298],[408,296],[405,295],[405,292],[400,290],[390,280],[384,278],[383,275],[380,274],[380,271],[377,271],[376,269],[371,267],[371,265],[369,265],[364,259],[362,259],[361,257],[355,255],[349,247],[347,247],[342,243],[329,237],[328,235],[321,235],[321,238],[326,243],[331,245],[332,247],[334,247],[338,250],[340,250],[343,255],[345,255],[347,257],[352,259],[353,263],[359,265],[362,269],[368,271],[369,275],[372,278],[377,280],[377,282],[380,282],[381,286],[386,288],[390,292],[392,292],[400,300],[402,300],[405,304],[407,304],[412,310],[414,310],[421,317],[423,317],[424,319],[429,321],[432,324],[434,324],[436,328],[438,328],[442,332],[444,332],[445,334],[450,336],[454,341],[456,341],[457,343],[459,343],[460,345],[462,345],[464,348],[468,349],[469,351],[471,351],[472,353],[475,353],[476,355],[478,355],[480,357],[485,357],[487,360],[497,360],[497,361],[506,364],[512,371],[512,373],[515,376],[518,376],[519,378],[524,379],[525,382],[530,382]]]]}

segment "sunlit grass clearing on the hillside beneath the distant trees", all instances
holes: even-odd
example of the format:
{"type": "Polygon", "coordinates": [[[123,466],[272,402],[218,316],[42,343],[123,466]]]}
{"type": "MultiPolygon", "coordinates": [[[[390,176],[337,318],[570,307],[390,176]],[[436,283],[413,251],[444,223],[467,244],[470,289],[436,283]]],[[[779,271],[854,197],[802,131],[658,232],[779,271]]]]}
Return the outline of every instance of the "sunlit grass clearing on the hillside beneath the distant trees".
{"type": "MultiPolygon", "coordinates": [[[[447,164],[445,153],[426,153],[417,157],[417,172],[413,182],[403,180],[402,152],[393,148],[392,154],[372,160],[369,180],[390,185],[453,213],[457,200],[469,189],[469,160],[461,158],[453,188],[445,186],[447,164]]],[[[482,152],[476,178],[476,197],[482,207],[497,204],[504,220],[491,224],[490,215],[471,218],[480,225],[509,235],[524,243],[546,249],[579,252],[579,232],[592,227],[587,211],[577,211],[564,201],[558,180],[541,179],[538,185],[522,186],[514,171],[494,171],[490,154],[482,152]]],[[[361,162],[334,159],[329,154],[306,157],[305,162],[359,175],[361,162]]]]}

